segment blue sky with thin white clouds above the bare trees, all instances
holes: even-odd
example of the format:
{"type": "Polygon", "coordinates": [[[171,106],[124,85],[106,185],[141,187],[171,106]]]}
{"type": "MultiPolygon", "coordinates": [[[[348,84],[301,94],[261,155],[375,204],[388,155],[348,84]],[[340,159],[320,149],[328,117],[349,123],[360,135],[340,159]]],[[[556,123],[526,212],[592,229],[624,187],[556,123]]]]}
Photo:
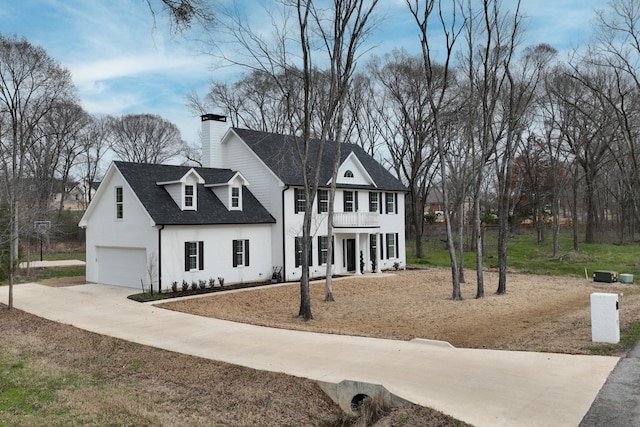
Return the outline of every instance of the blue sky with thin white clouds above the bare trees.
{"type": "MultiPolygon", "coordinates": [[[[264,17],[258,6],[263,2],[244,0],[242,4],[264,17]]],[[[503,0],[504,8],[514,4],[515,0],[503,0]]],[[[405,1],[381,0],[380,5],[384,19],[372,36],[372,52],[384,54],[396,47],[417,50],[415,24],[405,1]]],[[[523,0],[528,17],[524,44],[544,42],[568,52],[588,40],[594,10],[604,5],[603,0],[523,0]]],[[[161,14],[154,23],[146,0],[0,3],[2,34],[24,36],[68,68],[89,113],[159,114],[178,125],[185,140],[195,143],[200,119],[185,106],[186,94],[203,95],[211,79],[233,79],[241,71],[221,68],[214,58],[201,53],[202,47],[185,37],[173,37],[168,27],[161,14]]]]}

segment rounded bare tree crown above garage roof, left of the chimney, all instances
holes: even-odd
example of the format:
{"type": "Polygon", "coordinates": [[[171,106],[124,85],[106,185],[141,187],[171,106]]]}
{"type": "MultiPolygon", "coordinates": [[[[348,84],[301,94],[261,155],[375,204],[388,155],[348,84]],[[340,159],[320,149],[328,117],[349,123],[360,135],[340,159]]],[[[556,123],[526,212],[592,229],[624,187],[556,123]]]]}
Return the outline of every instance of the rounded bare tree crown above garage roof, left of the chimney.
{"type": "Polygon", "coordinates": [[[153,114],[128,114],[109,120],[110,148],[120,160],[164,163],[180,154],[184,141],[178,127],[153,114]]]}

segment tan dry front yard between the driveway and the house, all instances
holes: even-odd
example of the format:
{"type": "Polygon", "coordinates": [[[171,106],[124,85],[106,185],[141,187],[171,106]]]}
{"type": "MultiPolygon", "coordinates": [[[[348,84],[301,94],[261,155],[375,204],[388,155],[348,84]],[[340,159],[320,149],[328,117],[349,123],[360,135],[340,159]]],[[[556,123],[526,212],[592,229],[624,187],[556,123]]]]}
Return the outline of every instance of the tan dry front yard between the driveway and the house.
{"type": "Polygon", "coordinates": [[[640,321],[640,286],[509,274],[507,294],[495,295],[497,273],[484,275],[485,298],[475,299],[476,277],[466,272],[463,301],[451,300],[450,271],[407,270],[311,285],[314,320],[296,317],[297,285],[259,288],[173,301],[162,307],[277,328],[410,340],[448,341],[456,347],[588,354],[590,294],[618,293],[620,326],[640,321]]]}

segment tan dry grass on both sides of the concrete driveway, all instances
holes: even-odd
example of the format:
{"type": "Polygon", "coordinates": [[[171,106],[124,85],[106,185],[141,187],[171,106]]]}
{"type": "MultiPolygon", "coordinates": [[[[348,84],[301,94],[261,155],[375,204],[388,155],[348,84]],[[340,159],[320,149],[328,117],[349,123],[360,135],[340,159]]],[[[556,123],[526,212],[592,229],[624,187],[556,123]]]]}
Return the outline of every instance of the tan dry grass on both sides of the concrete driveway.
{"type": "MultiPolygon", "coordinates": [[[[496,280],[495,273],[486,273],[487,296],[476,300],[475,276],[467,273],[464,301],[451,300],[446,269],[336,280],[333,303],[323,302],[324,284],[316,283],[311,287],[315,319],[309,322],[296,317],[296,285],[164,306],[279,328],[568,353],[586,353],[591,346],[592,292],[623,294],[621,327],[640,320],[635,285],[510,275],[507,295],[496,296],[496,280]]],[[[15,387],[29,382],[37,389],[49,387],[54,399],[36,401],[23,413],[2,406],[5,390],[0,389],[0,425],[465,426],[415,405],[389,413],[382,405],[367,407],[372,418],[365,423],[342,414],[308,380],[145,347],[0,306],[0,369],[20,364],[28,375],[15,387]]]]}

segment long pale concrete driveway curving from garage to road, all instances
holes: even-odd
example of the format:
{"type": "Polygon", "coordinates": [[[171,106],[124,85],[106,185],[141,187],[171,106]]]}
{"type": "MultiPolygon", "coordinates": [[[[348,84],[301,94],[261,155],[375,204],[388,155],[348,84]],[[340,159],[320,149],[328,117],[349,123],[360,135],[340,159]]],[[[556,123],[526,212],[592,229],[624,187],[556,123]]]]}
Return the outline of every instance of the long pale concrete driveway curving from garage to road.
{"type": "MultiPolygon", "coordinates": [[[[7,290],[0,288],[3,302],[7,290]]],[[[50,320],[175,352],[328,383],[381,384],[475,426],[577,426],[619,360],[265,328],[126,299],[134,292],[94,284],[21,284],[14,287],[14,304],[50,320]]]]}

